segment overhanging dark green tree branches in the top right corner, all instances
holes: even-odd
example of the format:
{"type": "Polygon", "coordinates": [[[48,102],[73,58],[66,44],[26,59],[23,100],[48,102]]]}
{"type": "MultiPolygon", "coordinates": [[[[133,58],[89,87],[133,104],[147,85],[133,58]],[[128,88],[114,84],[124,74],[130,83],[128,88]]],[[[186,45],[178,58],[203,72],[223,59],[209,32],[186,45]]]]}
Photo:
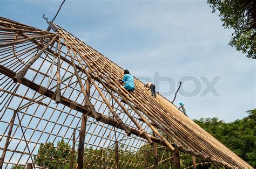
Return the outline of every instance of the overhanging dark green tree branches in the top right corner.
{"type": "Polygon", "coordinates": [[[255,0],[208,0],[212,12],[219,11],[224,28],[233,29],[228,45],[245,53],[248,58],[256,58],[255,0]],[[254,7],[253,7],[254,6],[254,7]],[[253,10],[254,8],[254,10],[253,10]]]}

